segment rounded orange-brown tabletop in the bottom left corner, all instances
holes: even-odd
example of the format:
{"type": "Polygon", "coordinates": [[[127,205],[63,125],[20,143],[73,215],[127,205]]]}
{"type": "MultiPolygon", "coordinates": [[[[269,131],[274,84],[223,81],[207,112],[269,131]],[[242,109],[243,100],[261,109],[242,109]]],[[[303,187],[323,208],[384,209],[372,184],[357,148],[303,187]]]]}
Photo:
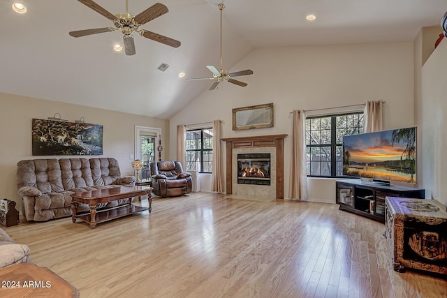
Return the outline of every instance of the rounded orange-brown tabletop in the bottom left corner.
{"type": "Polygon", "coordinates": [[[22,263],[0,269],[0,297],[80,297],[78,289],[50,269],[22,263]]]}

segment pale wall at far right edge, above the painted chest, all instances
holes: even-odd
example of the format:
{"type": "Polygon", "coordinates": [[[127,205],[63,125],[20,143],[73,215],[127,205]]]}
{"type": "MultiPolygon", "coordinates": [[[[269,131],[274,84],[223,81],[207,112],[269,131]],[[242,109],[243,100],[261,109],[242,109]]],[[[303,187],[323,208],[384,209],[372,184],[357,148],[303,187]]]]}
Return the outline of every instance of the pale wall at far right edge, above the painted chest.
{"type": "Polygon", "coordinates": [[[447,205],[447,40],[441,41],[422,68],[421,117],[423,188],[447,205]]]}

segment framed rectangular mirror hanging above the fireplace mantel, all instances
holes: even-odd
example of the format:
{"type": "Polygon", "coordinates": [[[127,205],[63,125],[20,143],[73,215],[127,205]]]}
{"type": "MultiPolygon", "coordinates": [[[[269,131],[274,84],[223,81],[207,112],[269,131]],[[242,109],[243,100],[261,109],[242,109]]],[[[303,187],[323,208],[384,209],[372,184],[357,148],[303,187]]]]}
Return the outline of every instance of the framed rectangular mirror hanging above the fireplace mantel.
{"type": "Polygon", "coordinates": [[[233,109],[233,131],[273,127],[273,103],[233,109]]]}

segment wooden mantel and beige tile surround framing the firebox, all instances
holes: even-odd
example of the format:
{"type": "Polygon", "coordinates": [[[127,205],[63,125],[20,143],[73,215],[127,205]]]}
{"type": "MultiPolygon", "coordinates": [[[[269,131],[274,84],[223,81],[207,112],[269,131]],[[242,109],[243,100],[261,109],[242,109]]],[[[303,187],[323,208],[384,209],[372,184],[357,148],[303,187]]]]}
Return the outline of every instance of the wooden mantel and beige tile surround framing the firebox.
{"type": "Polygon", "coordinates": [[[286,136],[223,138],[222,140],[226,142],[227,195],[284,199],[284,137],[286,136]],[[237,184],[237,154],[249,153],[270,153],[270,186],[237,184]]]}

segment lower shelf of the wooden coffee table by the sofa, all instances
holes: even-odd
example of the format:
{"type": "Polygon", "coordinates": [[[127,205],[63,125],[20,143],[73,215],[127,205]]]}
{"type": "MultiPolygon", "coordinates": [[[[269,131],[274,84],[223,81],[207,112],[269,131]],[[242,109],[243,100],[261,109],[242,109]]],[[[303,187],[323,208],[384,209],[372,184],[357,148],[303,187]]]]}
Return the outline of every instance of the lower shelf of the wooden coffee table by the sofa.
{"type": "MultiPolygon", "coordinates": [[[[85,221],[90,225],[90,227],[94,228],[97,223],[103,223],[105,221],[111,221],[115,218],[120,218],[124,216],[128,216],[130,214],[138,213],[141,211],[149,210],[149,207],[140,207],[134,204],[127,204],[118,206],[112,209],[107,210],[98,210],[96,211],[95,220],[91,221],[90,213],[85,214],[76,214],[73,216],[73,223],[76,222],[76,219],[80,219],[81,221],[85,221]]],[[[150,212],[150,211],[149,211],[150,212]]]]}

